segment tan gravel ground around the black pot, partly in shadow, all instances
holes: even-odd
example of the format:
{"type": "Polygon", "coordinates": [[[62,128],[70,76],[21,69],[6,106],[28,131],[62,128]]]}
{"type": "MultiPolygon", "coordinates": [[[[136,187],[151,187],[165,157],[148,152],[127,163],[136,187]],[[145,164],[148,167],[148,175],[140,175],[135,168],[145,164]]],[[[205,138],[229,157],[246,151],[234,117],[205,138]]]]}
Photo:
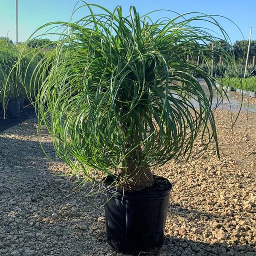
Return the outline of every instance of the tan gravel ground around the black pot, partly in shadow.
{"type": "MultiPolygon", "coordinates": [[[[215,117],[221,160],[212,143],[190,164],[155,170],[173,183],[166,239],[140,256],[256,256],[256,113],[241,113],[233,131],[228,111],[215,117]]],[[[68,169],[44,155],[36,127],[0,134],[0,255],[123,256],[107,244],[102,195],[54,173],[68,169]]],[[[46,132],[42,143],[54,155],[46,132]]]]}

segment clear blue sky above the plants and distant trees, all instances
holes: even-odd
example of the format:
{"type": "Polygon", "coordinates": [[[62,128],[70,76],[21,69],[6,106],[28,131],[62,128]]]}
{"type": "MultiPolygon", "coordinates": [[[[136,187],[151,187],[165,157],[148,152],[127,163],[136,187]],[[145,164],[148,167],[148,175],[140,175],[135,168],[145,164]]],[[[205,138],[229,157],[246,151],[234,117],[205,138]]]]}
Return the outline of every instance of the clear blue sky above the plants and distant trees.
{"type": "MultiPolygon", "coordinates": [[[[68,21],[77,0],[18,0],[19,41],[25,41],[32,32],[44,23],[51,21],[68,21]]],[[[16,0],[0,0],[0,36],[15,41],[15,3],[16,0]]],[[[178,13],[203,12],[209,15],[223,15],[239,26],[244,38],[249,38],[250,27],[254,26],[252,39],[256,40],[256,0],[90,0],[113,10],[121,5],[124,14],[128,14],[131,5],[135,5],[140,14],[155,9],[170,9],[178,13]]],[[[87,12],[81,11],[76,18],[87,12]]],[[[160,17],[154,14],[153,18],[160,17]]],[[[242,40],[243,36],[232,23],[219,19],[232,42],[242,40]]]]}

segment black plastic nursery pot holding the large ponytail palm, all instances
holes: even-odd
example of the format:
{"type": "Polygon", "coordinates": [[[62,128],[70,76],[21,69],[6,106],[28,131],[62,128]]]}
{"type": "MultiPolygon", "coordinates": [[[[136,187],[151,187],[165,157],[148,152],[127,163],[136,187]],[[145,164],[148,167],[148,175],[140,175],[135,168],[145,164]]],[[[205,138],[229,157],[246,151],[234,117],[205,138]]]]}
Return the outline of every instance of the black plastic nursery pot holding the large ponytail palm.
{"type": "Polygon", "coordinates": [[[172,184],[156,191],[116,189],[105,178],[105,218],[108,243],[122,252],[140,252],[163,245],[164,228],[172,184]]]}

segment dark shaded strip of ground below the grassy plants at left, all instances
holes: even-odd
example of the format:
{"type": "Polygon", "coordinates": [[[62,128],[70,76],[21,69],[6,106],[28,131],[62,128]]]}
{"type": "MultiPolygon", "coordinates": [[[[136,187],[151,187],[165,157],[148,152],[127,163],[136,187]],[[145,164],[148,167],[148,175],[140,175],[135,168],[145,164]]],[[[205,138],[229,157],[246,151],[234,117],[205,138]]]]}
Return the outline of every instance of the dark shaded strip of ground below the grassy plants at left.
{"type": "Polygon", "coordinates": [[[35,108],[33,106],[27,106],[20,110],[20,116],[15,118],[6,118],[0,117],[0,133],[4,130],[12,127],[13,125],[17,125],[20,122],[25,121],[26,119],[34,118],[35,108]]]}

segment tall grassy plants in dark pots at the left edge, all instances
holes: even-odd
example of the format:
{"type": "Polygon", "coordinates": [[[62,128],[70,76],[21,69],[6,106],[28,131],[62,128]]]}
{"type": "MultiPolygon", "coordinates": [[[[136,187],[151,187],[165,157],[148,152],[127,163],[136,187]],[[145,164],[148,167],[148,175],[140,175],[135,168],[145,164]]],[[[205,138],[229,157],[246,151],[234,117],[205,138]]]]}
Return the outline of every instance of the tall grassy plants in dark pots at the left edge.
{"type": "MultiPolygon", "coordinates": [[[[33,57],[31,49],[23,45],[14,45],[6,39],[0,40],[0,112],[4,117],[18,117],[20,109],[35,100],[37,91],[28,87],[28,81],[39,79],[36,66],[42,55],[33,57]],[[19,68],[17,69],[17,61],[19,68]],[[37,77],[37,78],[36,78],[37,77]],[[27,81],[25,81],[27,80],[27,81]],[[26,84],[26,85],[25,85],[26,84]]],[[[37,83],[37,81],[35,81],[37,83]]]]}

